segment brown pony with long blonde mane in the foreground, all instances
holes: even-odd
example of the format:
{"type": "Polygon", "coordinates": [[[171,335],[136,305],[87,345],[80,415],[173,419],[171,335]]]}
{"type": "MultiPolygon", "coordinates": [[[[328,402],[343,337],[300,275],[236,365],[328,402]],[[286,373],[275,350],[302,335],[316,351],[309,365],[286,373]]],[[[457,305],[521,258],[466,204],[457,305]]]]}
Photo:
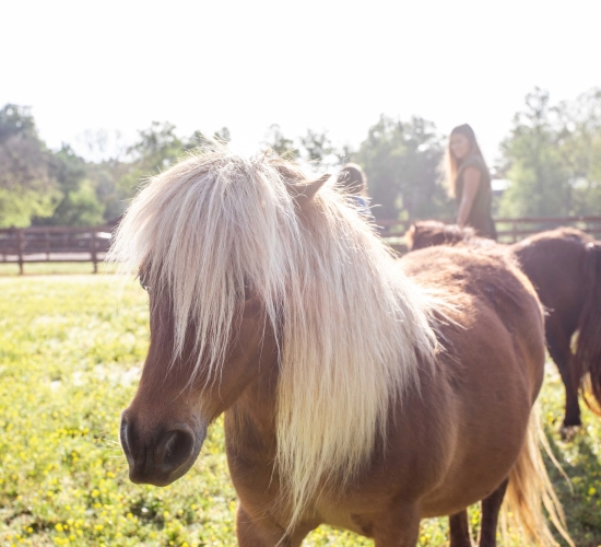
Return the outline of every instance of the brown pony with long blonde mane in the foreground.
{"type": "Polygon", "coordinates": [[[139,272],[151,329],[121,415],[130,480],[182,477],[225,412],[243,547],[296,547],[322,523],[415,546],[435,515],[462,547],[479,500],[491,547],[506,488],[525,542],[555,545],[530,282],[493,254],[397,260],[327,179],[213,143],[129,206],[110,259],[139,272]]]}

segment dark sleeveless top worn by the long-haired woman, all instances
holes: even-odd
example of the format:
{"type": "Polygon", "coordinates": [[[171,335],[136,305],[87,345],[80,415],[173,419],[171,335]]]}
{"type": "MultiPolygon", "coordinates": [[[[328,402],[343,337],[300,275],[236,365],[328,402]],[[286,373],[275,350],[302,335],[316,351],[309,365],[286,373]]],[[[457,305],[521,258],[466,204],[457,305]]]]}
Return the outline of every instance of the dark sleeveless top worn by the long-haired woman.
{"type": "Polygon", "coordinates": [[[483,160],[478,155],[469,155],[459,167],[455,186],[457,206],[461,203],[463,196],[463,173],[468,167],[475,167],[480,171],[480,183],[466,224],[472,226],[481,237],[496,240],[497,232],[492,214],[493,190],[491,188],[491,174],[483,160]]]}

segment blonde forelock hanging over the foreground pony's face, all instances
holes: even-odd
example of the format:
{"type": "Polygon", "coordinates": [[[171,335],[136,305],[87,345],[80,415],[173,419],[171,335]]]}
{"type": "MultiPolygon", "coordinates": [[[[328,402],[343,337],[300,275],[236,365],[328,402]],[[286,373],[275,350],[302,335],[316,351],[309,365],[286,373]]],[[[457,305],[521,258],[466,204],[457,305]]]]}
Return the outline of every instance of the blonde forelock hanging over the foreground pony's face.
{"type": "Polygon", "coordinates": [[[126,272],[145,265],[145,284],[170,301],[174,362],[193,322],[191,380],[201,359],[208,377],[216,377],[248,280],[267,301],[276,300],[281,283],[263,281],[282,279],[270,271],[282,255],[278,219],[294,211],[285,186],[270,184],[274,173],[258,167],[221,149],[155,177],[131,203],[110,252],[126,272]]]}

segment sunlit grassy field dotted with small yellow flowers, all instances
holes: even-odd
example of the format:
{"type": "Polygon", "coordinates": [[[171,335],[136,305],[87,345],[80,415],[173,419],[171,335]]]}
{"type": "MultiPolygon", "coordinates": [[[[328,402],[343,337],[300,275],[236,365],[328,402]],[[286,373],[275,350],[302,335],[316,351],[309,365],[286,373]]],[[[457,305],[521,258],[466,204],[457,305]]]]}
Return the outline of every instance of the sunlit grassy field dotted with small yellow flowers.
{"type": "MultiPolygon", "coordinates": [[[[139,286],[119,296],[111,276],[4,275],[0,295],[0,545],[235,545],[221,423],[186,479],[163,489],[128,481],[117,431],[148,345],[139,286]]],[[[570,493],[551,472],[569,531],[578,546],[598,546],[601,418],[585,412],[586,427],[570,442],[559,439],[563,396],[553,368],[542,403],[574,484],[570,493]]],[[[474,525],[478,517],[474,509],[474,525]]],[[[420,544],[445,545],[446,533],[446,520],[424,521],[420,544]]],[[[329,527],[306,544],[373,545],[329,527]]]]}

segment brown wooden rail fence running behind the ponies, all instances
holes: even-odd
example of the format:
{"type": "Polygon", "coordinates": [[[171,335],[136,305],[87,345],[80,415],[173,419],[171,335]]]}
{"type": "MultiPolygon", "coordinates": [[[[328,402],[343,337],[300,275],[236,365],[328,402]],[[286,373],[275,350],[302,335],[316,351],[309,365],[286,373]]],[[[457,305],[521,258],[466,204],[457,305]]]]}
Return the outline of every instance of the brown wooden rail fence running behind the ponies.
{"type": "MultiPolygon", "coordinates": [[[[404,233],[413,221],[378,220],[381,236],[399,253],[406,252],[404,233]]],[[[578,228],[601,238],[601,217],[495,219],[498,241],[514,243],[557,226],[578,228]]],[[[95,228],[24,228],[0,230],[0,263],[92,263],[94,272],[110,246],[114,225],[95,228]]]]}

